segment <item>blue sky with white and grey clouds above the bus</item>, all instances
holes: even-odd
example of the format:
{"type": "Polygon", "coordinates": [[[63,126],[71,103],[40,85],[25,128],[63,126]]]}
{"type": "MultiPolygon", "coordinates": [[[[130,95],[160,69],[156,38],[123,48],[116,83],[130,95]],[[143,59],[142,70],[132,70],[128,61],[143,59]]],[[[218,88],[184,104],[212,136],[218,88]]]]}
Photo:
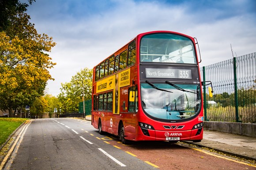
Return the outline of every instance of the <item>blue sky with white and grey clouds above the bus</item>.
{"type": "MultiPolygon", "coordinates": [[[[25,0],[23,0],[25,1],[25,0]]],[[[26,2],[26,1],[25,1],[26,2]]],[[[256,52],[256,0],[36,0],[27,8],[39,34],[53,37],[56,65],[46,92],[60,94],[139,33],[168,30],[196,37],[200,67],[256,52]]]]}

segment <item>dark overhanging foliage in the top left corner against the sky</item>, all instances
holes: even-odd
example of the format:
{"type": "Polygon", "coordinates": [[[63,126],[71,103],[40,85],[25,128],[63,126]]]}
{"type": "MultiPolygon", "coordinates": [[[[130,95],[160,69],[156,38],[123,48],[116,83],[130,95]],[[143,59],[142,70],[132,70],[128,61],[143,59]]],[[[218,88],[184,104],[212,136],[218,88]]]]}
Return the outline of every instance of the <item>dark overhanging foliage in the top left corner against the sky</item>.
{"type": "MultiPolygon", "coordinates": [[[[31,5],[35,0],[27,0],[31,5]]],[[[23,13],[29,5],[19,0],[0,0],[0,31],[11,25],[11,20],[17,13],[23,13]]]]}

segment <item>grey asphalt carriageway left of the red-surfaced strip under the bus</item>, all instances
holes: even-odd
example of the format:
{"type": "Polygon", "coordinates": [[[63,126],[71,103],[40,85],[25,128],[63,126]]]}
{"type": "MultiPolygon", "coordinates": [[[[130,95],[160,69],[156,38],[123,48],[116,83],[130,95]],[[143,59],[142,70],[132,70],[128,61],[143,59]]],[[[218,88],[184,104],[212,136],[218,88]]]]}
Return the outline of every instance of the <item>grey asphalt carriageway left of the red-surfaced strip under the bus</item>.
{"type": "Polygon", "coordinates": [[[104,142],[109,138],[101,138],[102,135],[98,134],[89,121],[70,118],[34,119],[27,127],[8,169],[154,169],[135,156],[104,142]]]}

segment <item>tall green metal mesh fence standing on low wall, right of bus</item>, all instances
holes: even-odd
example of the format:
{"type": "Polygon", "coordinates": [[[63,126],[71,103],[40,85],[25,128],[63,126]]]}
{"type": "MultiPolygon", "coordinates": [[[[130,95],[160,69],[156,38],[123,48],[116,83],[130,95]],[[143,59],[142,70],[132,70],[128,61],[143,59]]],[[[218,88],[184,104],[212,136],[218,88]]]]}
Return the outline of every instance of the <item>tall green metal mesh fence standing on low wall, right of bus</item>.
{"type": "Polygon", "coordinates": [[[201,75],[214,91],[204,93],[205,120],[256,123],[256,52],[205,66],[201,75]]]}

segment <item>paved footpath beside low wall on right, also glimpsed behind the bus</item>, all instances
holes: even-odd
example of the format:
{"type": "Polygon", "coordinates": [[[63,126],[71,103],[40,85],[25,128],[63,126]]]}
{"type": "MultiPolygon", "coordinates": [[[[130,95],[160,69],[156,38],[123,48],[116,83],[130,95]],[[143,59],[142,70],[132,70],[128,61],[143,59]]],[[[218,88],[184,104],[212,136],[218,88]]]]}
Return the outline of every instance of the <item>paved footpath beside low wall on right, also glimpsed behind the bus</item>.
{"type": "MultiPolygon", "coordinates": [[[[91,116],[86,116],[86,120],[91,121],[91,116]]],[[[227,134],[204,129],[203,140],[193,144],[211,148],[232,156],[256,160],[256,137],[227,134]]]]}

